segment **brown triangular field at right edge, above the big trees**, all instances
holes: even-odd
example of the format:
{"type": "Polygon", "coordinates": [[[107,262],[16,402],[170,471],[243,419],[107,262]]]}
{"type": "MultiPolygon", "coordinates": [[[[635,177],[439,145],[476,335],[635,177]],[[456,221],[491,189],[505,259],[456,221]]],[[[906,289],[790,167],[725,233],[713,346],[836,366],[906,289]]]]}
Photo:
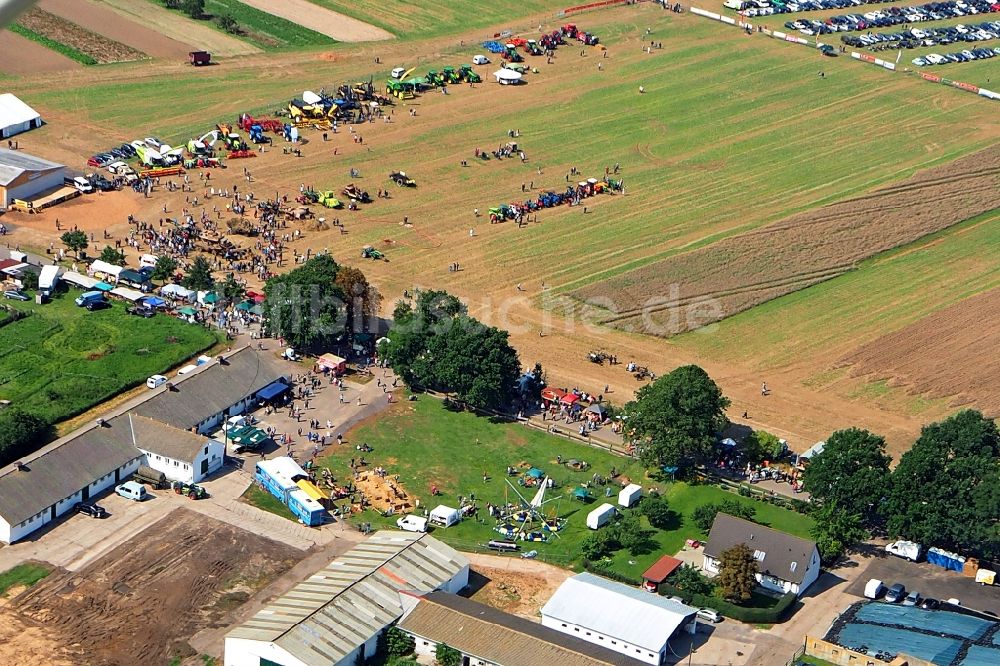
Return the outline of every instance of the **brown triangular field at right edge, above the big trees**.
{"type": "Polygon", "coordinates": [[[845,356],[852,375],[1000,415],[1000,289],[939,310],[845,356]]]}

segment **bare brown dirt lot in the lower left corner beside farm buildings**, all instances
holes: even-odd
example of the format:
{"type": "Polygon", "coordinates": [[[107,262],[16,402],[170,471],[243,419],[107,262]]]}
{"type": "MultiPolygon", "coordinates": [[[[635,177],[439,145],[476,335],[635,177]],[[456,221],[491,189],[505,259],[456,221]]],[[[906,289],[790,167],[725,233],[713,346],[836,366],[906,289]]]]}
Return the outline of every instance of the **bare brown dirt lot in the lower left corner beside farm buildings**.
{"type": "MultiPolygon", "coordinates": [[[[232,609],[301,557],[181,509],[78,573],[53,572],[0,609],[0,625],[40,629],[72,663],[165,664],[194,654],[186,639],[224,626],[232,609]]],[[[31,654],[19,652],[21,640],[11,637],[4,649],[31,654]]]]}

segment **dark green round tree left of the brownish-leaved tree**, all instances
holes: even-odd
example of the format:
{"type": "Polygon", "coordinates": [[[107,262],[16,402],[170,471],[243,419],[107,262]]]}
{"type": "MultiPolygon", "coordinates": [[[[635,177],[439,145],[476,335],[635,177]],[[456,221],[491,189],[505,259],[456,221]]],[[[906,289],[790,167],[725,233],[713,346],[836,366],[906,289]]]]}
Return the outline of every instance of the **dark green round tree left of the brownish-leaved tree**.
{"type": "Polygon", "coordinates": [[[347,326],[344,292],[336,284],[340,266],[321,254],[264,285],[264,325],[269,333],[301,348],[320,348],[343,339],[347,326]]]}

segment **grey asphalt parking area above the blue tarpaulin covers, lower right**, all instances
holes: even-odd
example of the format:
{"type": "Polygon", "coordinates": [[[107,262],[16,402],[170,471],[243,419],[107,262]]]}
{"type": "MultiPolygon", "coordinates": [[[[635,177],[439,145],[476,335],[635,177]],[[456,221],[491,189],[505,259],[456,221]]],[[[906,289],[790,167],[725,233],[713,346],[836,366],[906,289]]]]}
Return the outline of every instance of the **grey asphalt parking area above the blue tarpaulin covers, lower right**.
{"type": "Polygon", "coordinates": [[[865,583],[871,578],[881,580],[886,587],[902,583],[907,590],[916,590],[922,597],[942,601],[954,597],[967,608],[1000,615],[1000,590],[996,587],[979,585],[972,578],[926,562],[910,562],[892,555],[881,555],[872,560],[864,575],[859,576],[847,592],[863,598],[865,583]]]}

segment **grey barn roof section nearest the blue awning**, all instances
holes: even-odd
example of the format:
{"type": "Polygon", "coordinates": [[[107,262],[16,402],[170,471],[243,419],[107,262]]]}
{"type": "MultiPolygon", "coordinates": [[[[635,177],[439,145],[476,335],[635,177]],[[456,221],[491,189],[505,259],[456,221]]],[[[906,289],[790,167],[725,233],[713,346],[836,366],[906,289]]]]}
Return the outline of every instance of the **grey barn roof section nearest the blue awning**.
{"type": "Polygon", "coordinates": [[[290,366],[269,354],[244,347],[213,361],[201,370],[171,380],[173,390],[162,386],[135,413],[187,430],[271,382],[288,376],[290,366]]]}

